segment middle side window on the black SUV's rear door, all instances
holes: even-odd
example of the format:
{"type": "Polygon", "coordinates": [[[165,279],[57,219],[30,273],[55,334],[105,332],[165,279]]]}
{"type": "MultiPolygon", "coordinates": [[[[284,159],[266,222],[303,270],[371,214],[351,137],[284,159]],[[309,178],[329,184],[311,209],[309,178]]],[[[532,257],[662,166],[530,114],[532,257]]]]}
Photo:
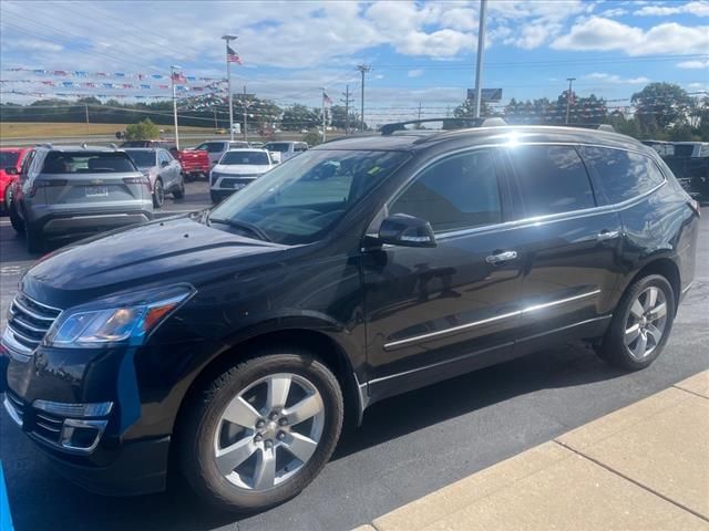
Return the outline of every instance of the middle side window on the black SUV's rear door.
{"type": "Polygon", "coordinates": [[[572,146],[510,148],[526,216],[547,216],[596,206],[578,153],[572,146]]]}

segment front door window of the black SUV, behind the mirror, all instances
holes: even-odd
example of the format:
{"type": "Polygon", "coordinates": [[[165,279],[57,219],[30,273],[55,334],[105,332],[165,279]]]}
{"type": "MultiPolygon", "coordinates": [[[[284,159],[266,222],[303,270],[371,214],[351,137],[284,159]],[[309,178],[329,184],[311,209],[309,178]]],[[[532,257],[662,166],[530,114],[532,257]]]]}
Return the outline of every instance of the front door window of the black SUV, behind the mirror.
{"type": "Polygon", "coordinates": [[[436,232],[502,221],[495,158],[490,150],[454,155],[425,168],[390,206],[436,232]]]}

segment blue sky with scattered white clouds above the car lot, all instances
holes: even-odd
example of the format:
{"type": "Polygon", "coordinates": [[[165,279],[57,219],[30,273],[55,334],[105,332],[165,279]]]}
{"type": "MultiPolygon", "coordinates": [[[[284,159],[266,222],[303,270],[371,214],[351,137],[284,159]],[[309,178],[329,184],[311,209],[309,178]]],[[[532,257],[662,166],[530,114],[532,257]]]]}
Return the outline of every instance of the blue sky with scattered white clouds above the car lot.
{"type": "MultiPolygon", "coordinates": [[[[59,91],[40,83],[56,77],[13,67],[167,74],[178,65],[186,75],[223,77],[220,37],[230,33],[243,61],[232,67],[235,90],[318,106],[320,87],[340,103],[349,84],[359,107],[356,66],[366,63],[368,121],[415,116],[419,103],[423,117],[442,116],[474,86],[479,9],[479,0],[2,0],[0,96],[27,103],[33,97],[9,91],[59,91]]],[[[709,90],[708,0],[490,0],[485,41],[483,86],[501,87],[503,104],[556,98],[567,77],[577,95],[603,96],[612,107],[655,81],[709,90]]]]}

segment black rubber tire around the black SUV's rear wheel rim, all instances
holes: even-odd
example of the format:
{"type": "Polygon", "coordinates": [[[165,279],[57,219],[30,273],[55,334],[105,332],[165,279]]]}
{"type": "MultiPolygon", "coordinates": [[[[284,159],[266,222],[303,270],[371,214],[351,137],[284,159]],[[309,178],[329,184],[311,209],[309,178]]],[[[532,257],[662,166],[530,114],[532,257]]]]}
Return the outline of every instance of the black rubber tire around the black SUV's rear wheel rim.
{"type": "Polygon", "coordinates": [[[596,347],[596,353],[610,365],[625,371],[640,371],[648,367],[661,354],[662,348],[665,348],[665,344],[667,343],[672,330],[672,323],[675,322],[675,292],[665,277],[660,274],[650,274],[636,280],[627,288],[620,299],[620,302],[613,314],[610,326],[608,327],[600,345],[596,347]],[[651,287],[657,288],[662,292],[666,304],[666,321],[659,343],[656,343],[656,346],[648,355],[638,360],[633,356],[629,347],[625,344],[626,325],[628,324],[630,309],[634,302],[638,296],[640,296],[640,294],[643,294],[643,292],[651,287]]]}

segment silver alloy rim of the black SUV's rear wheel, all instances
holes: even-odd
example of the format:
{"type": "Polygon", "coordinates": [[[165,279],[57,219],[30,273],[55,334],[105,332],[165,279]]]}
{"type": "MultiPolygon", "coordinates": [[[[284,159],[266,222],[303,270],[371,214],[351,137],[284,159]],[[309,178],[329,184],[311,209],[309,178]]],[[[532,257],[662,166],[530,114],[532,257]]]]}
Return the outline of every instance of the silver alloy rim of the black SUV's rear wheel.
{"type": "Polygon", "coordinates": [[[635,360],[644,360],[660,344],[667,326],[667,299],[662,290],[650,285],[630,304],[624,343],[635,360]]]}

